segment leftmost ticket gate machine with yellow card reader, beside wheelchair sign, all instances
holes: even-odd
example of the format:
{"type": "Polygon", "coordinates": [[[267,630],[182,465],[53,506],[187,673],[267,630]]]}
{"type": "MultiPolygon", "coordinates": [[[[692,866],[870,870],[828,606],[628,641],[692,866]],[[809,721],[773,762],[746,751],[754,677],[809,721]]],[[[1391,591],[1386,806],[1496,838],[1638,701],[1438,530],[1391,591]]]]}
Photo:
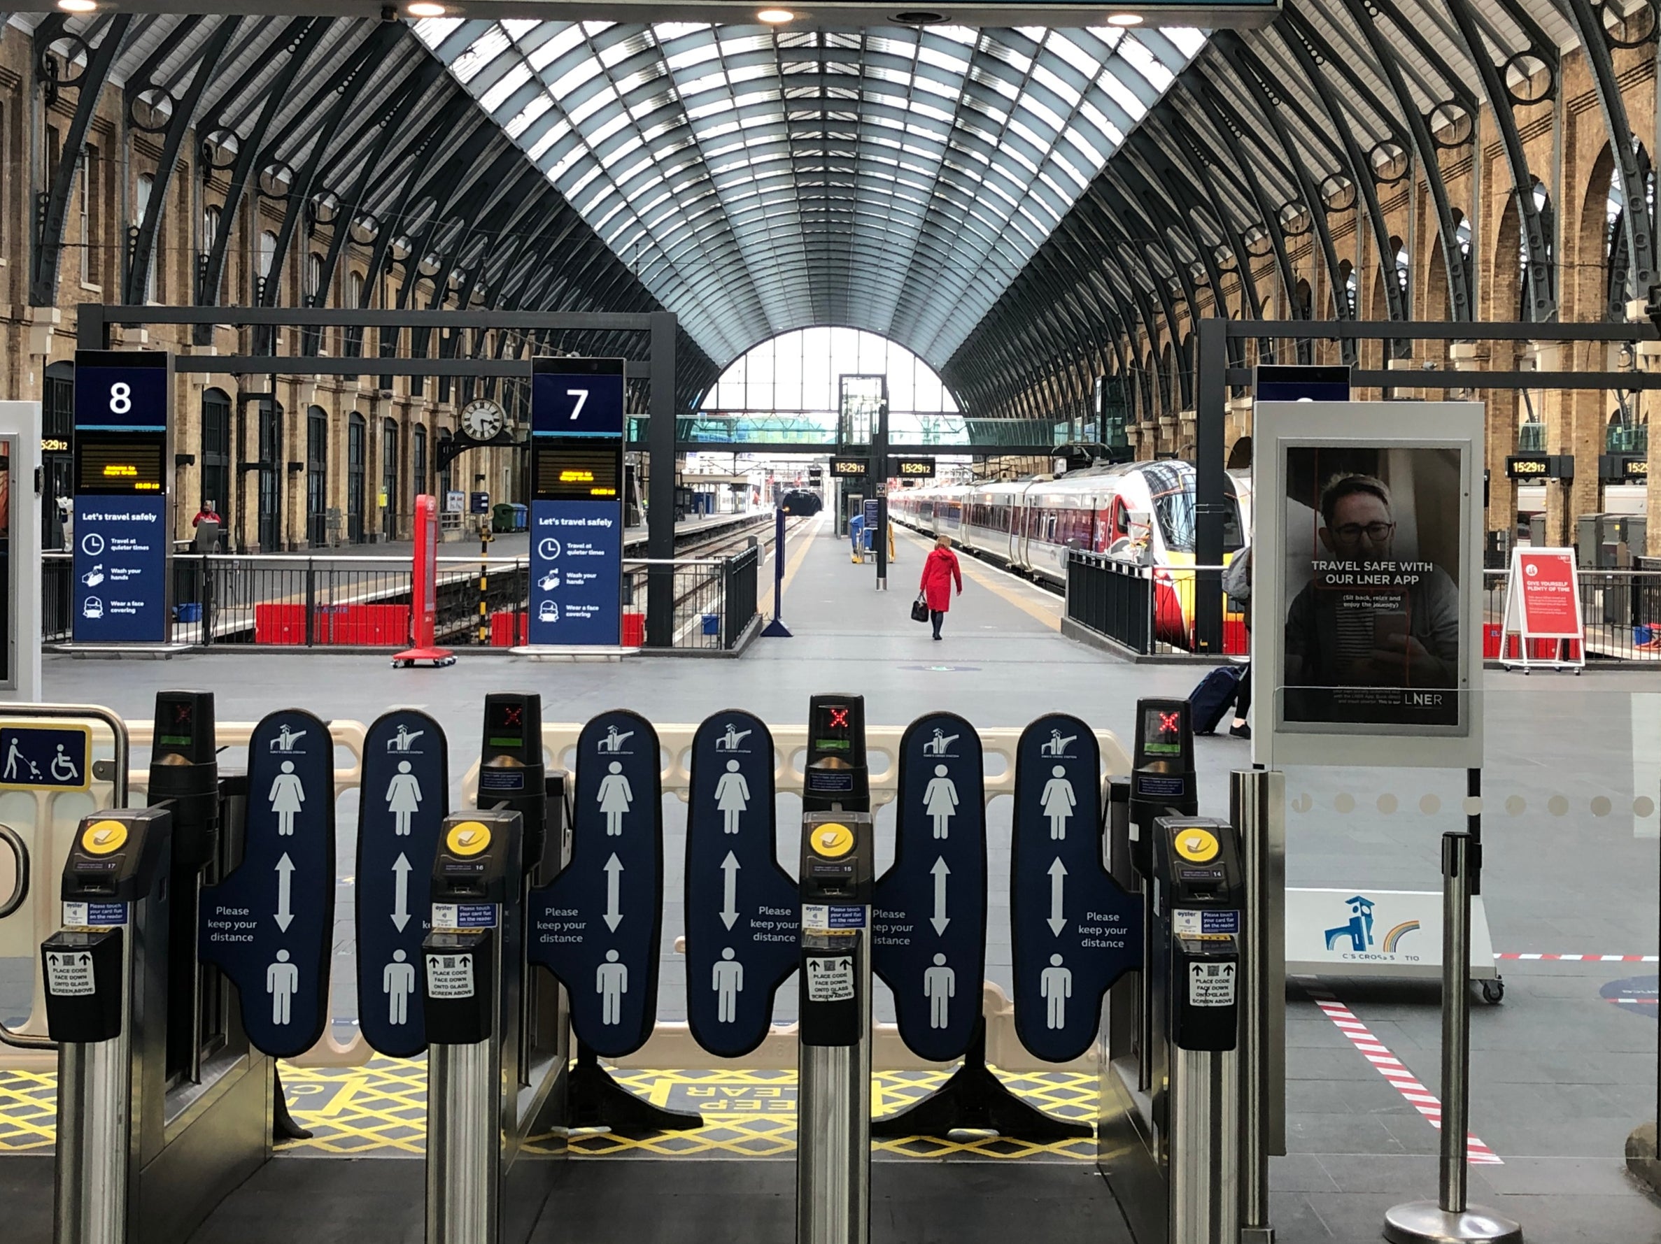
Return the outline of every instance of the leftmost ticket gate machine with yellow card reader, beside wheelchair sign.
{"type": "Polygon", "coordinates": [[[58,1043],[56,1244],[184,1239],[271,1156],[272,1063],[198,963],[203,875],[226,864],[213,696],[159,693],[153,806],[86,817],[42,947],[58,1043]],[[164,724],[166,722],[166,724],[164,724]]]}

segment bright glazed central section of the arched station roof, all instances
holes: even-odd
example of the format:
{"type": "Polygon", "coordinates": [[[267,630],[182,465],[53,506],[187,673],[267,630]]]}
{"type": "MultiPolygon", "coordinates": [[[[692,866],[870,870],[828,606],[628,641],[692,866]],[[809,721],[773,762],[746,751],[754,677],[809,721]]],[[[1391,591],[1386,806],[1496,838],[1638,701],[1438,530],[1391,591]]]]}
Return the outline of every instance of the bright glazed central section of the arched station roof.
{"type": "Polygon", "coordinates": [[[837,324],[943,365],[1204,45],[1184,28],[415,32],[719,364],[837,324]]]}

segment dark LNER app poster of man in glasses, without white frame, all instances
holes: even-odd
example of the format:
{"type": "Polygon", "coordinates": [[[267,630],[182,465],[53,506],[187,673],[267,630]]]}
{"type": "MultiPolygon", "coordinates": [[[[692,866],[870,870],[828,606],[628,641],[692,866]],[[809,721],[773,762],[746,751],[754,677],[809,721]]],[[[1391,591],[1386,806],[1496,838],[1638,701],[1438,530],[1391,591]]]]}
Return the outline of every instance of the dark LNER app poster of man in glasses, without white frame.
{"type": "Polygon", "coordinates": [[[1458,724],[1460,483],[1458,448],[1286,448],[1287,724],[1458,724]]]}

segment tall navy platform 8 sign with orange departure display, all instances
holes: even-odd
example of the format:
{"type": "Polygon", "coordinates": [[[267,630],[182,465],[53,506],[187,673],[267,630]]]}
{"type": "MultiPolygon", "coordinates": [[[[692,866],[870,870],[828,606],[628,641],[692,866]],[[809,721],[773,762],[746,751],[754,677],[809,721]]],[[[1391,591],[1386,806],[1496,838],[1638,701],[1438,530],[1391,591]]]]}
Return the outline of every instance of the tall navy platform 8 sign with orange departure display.
{"type": "Polygon", "coordinates": [[[173,355],[75,352],[75,643],[173,638],[173,355]]]}

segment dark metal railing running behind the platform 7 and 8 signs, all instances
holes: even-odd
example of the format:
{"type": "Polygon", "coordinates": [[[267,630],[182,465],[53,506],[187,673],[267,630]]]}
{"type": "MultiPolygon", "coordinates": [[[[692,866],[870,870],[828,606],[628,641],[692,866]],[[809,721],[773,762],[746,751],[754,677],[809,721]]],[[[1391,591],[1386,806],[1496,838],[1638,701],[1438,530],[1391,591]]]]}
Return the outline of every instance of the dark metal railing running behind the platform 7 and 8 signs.
{"type": "MultiPolygon", "coordinates": [[[[759,551],[733,558],[678,558],[673,646],[734,648],[756,616],[759,551]]],[[[625,644],[644,643],[648,560],[623,561],[625,644]]],[[[530,558],[440,556],[435,638],[478,646],[480,568],[485,570],[485,646],[527,641],[530,558]]],[[[409,556],[219,555],[173,558],[173,641],[287,648],[404,648],[410,641],[409,556]]],[[[73,556],[47,553],[42,639],[68,641],[73,556]]]]}

